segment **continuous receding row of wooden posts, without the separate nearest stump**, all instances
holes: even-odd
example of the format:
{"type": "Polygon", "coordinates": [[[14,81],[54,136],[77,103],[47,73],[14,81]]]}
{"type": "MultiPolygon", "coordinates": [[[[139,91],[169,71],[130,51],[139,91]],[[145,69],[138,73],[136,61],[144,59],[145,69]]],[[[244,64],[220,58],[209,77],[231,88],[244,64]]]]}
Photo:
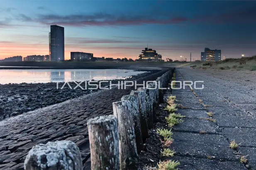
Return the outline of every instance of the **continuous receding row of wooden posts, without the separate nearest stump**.
{"type": "Polygon", "coordinates": [[[88,120],[92,170],[138,169],[138,153],[144,150],[148,130],[156,121],[159,103],[163,103],[166,90],[159,85],[167,87],[172,74],[170,70],[156,79],[157,85],[138,88],[114,102],[113,115],[88,120]]]}

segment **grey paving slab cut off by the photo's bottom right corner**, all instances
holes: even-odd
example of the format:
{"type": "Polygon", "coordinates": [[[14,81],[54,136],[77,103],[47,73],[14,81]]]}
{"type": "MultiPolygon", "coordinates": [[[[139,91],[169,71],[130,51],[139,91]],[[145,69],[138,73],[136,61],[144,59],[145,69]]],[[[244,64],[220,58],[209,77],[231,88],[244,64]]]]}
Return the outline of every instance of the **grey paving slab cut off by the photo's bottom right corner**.
{"type": "Polygon", "coordinates": [[[256,148],[239,147],[239,151],[248,159],[248,165],[255,170],[256,169],[256,148]]]}

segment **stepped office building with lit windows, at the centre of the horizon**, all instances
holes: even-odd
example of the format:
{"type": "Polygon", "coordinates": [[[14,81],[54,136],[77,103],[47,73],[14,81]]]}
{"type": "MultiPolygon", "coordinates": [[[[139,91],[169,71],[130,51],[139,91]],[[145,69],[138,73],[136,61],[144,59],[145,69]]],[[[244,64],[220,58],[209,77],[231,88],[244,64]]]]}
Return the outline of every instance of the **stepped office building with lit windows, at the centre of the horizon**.
{"type": "Polygon", "coordinates": [[[139,55],[139,61],[161,61],[162,55],[156,53],[156,50],[145,48],[142,54],[139,55]]]}

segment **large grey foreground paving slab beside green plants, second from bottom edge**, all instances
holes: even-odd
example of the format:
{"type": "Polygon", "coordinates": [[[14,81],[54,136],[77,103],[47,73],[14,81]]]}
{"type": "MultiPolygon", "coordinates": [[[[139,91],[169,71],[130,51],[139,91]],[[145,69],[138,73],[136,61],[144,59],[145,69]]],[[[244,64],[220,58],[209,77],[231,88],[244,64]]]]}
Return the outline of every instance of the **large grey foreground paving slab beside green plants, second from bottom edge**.
{"type": "Polygon", "coordinates": [[[173,132],[171,148],[179,155],[215,156],[222,160],[236,160],[234,151],[222,135],[173,132]]]}

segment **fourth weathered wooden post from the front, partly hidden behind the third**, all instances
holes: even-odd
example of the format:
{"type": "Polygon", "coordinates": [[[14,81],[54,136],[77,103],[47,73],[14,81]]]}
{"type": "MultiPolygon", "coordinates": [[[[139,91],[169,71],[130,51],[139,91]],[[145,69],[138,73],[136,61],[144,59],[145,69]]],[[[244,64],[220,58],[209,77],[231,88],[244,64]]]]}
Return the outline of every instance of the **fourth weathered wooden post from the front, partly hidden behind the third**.
{"type": "Polygon", "coordinates": [[[136,95],[126,95],[121,98],[121,101],[129,101],[132,104],[132,117],[134,121],[134,132],[136,136],[136,147],[137,152],[140,153],[143,151],[143,141],[141,135],[141,124],[140,124],[140,116],[139,116],[139,98],[136,95]]]}

